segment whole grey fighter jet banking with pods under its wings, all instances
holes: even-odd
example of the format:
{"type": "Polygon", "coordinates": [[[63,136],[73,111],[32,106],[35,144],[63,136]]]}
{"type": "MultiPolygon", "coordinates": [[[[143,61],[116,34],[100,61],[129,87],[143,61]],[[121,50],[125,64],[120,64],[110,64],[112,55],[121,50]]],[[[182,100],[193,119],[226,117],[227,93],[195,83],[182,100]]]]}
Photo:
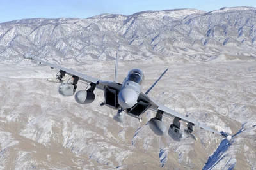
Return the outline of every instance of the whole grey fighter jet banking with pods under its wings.
{"type": "Polygon", "coordinates": [[[149,127],[157,136],[163,136],[166,134],[168,127],[164,124],[163,118],[164,116],[167,116],[173,118],[173,122],[170,124],[168,129],[168,134],[175,141],[182,141],[182,139],[188,137],[196,140],[197,138],[195,134],[193,134],[195,125],[200,127],[200,129],[205,129],[214,134],[219,134],[228,141],[232,139],[230,134],[223,131],[215,131],[214,129],[211,129],[210,127],[207,127],[204,124],[193,120],[192,118],[177,113],[176,111],[167,108],[163,104],[157,103],[157,101],[147,96],[148,92],[150,92],[150,90],[156,85],[156,83],[161,79],[168,69],[161,74],[161,76],[147,90],[147,92],[143,93],[141,90],[144,81],[144,74],[140,69],[132,69],[129,71],[127,77],[124,78],[122,83],[117,82],[117,55],[114,81],[104,81],[82,73],[77,73],[76,71],[37,59],[35,55],[29,53],[24,54],[24,59],[35,60],[38,62],[38,64],[45,64],[50,66],[52,69],[60,70],[56,74],[55,78],[49,78],[48,81],[60,83],[59,93],[63,96],[74,95],[79,80],[87,83],[88,87],[85,90],[80,90],[75,94],[75,99],[79,104],[92,103],[95,99],[94,90],[104,90],[104,102],[102,102],[100,106],[108,106],[109,108],[117,110],[116,115],[113,117],[116,122],[124,122],[125,115],[138,118],[138,120],[141,122],[141,116],[143,113],[145,113],[147,110],[152,110],[156,112],[156,117],[150,119],[149,127]],[[66,74],[72,76],[67,83],[63,81],[66,74]],[[187,123],[186,129],[181,128],[181,121],[187,123]]]}

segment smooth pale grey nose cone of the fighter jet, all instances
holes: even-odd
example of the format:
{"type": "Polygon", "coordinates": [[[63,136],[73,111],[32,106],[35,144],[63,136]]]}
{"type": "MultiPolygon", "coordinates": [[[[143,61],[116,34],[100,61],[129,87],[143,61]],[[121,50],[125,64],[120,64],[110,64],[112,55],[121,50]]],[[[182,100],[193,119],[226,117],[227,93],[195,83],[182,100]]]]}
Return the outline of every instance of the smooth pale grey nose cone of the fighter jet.
{"type": "Polygon", "coordinates": [[[130,88],[122,89],[118,94],[118,103],[123,109],[134,106],[137,103],[137,99],[137,93],[130,88]]]}

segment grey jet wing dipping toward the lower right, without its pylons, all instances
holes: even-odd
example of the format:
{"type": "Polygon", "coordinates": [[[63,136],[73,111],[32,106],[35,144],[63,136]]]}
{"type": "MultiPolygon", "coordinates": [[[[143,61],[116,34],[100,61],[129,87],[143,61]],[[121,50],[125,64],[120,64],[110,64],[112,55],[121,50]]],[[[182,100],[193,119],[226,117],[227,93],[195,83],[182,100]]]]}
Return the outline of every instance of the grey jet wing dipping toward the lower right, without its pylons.
{"type": "Polygon", "coordinates": [[[172,110],[172,109],[170,109],[170,108],[168,108],[168,107],[166,107],[162,104],[157,103],[156,101],[154,101],[154,99],[151,99],[146,94],[141,93],[140,97],[141,97],[141,99],[144,99],[144,100],[148,101],[148,103],[150,103],[150,108],[149,109],[152,110],[152,111],[157,112],[157,110],[161,110],[161,111],[163,111],[163,115],[165,115],[167,117],[173,117],[173,118],[179,117],[182,121],[187,122],[187,123],[191,122],[192,124],[195,124],[198,127],[200,127],[200,129],[205,129],[205,130],[210,131],[214,134],[219,134],[220,136],[227,139],[228,141],[230,141],[232,139],[232,137],[230,135],[228,135],[227,133],[222,132],[222,131],[218,132],[214,129],[211,129],[210,127],[207,127],[204,124],[201,124],[200,122],[197,122],[196,120],[194,120],[192,118],[186,117],[186,116],[178,113],[177,111],[174,111],[174,110],[172,110]]]}

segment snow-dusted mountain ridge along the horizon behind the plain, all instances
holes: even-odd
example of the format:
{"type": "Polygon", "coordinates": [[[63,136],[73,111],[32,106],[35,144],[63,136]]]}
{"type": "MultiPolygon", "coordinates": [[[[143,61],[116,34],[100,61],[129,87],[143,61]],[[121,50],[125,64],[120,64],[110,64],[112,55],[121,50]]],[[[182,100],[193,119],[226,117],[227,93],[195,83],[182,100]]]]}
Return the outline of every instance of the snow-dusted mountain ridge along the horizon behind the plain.
{"type": "Polygon", "coordinates": [[[60,61],[121,59],[208,60],[223,53],[255,56],[256,8],[144,11],[87,19],[36,18],[0,24],[2,62],[24,52],[60,61]]]}

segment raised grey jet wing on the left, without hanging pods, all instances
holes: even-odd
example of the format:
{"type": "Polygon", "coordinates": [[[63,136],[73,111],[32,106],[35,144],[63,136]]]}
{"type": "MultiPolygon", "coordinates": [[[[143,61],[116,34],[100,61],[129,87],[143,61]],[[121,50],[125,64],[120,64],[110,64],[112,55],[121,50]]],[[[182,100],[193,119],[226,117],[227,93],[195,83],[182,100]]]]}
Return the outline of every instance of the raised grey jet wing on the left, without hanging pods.
{"type": "Polygon", "coordinates": [[[70,76],[77,76],[77,77],[79,77],[79,80],[84,81],[88,84],[94,83],[96,85],[96,87],[101,90],[104,90],[105,86],[112,87],[116,90],[120,90],[122,87],[122,85],[120,85],[119,83],[115,83],[113,81],[100,80],[99,78],[93,78],[93,77],[87,76],[85,74],[77,73],[76,71],[73,71],[71,69],[66,69],[64,67],[56,66],[49,62],[45,62],[43,60],[37,59],[35,57],[35,55],[32,55],[32,54],[25,53],[24,58],[29,59],[29,60],[35,60],[39,64],[44,64],[46,66],[50,66],[52,69],[54,68],[54,69],[59,69],[59,70],[65,71],[66,74],[68,74],[70,76]]]}

